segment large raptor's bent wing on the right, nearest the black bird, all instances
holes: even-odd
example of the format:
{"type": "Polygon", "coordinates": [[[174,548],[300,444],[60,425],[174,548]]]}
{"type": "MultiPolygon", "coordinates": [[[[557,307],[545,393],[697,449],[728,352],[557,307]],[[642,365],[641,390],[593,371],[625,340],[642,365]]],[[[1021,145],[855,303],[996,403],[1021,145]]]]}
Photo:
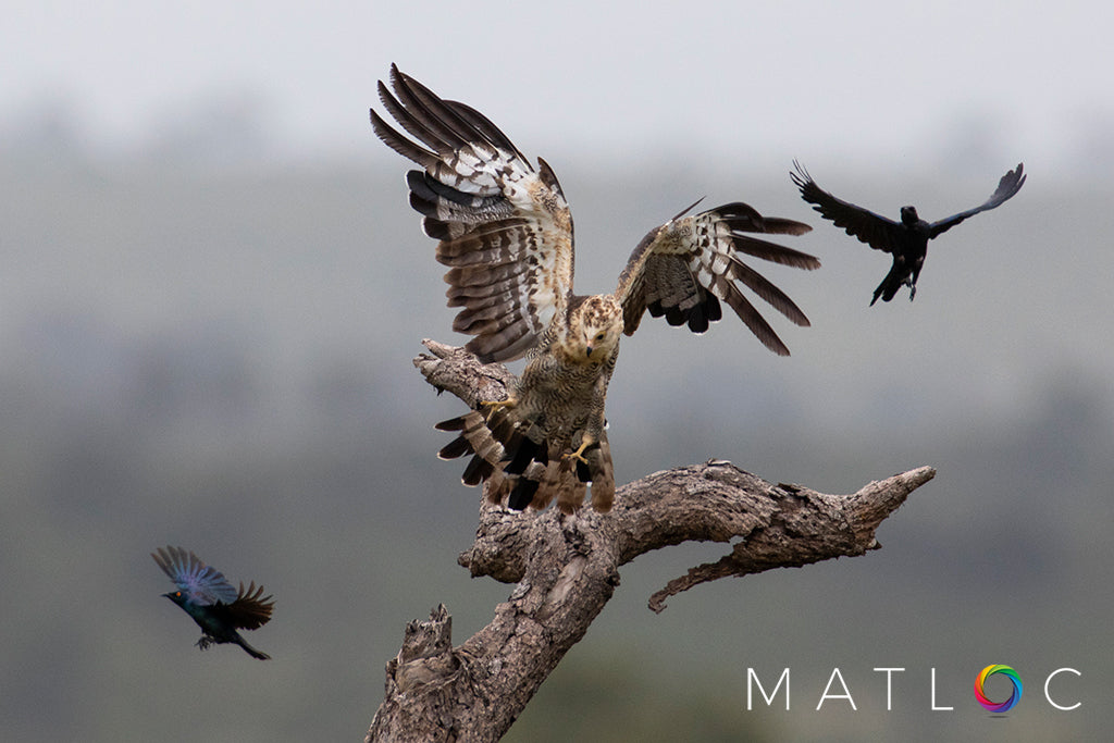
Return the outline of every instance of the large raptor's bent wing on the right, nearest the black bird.
{"type": "Polygon", "coordinates": [[[678,216],[646,235],[619,276],[616,299],[623,306],[624,332],[634,333],[644,310],[671,325],[688,324],[695,333],[723,316],[724,301],[763,344],[779,355],[789,349],[743,295],[742,283],[798,325],[804,313],[784,292],[743,263],[741,254],[798,268],[818,268],[820,261],[746,233],[802,235],[811,227],[800,222],[763,217],[742,203],[678,216]]]}

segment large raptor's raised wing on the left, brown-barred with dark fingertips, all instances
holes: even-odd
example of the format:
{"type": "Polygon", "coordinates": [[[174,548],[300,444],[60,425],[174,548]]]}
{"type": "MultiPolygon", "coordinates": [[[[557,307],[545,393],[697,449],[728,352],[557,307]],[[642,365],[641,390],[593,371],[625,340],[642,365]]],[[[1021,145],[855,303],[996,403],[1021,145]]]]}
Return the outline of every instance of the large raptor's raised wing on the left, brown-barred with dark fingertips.
{"type": "Polygon", "coordinates": [[[374,110],[388,146],[423,170],[407,175],[410,205],[441,241],[437,260],[449,306],[462,307],[453,330],[475,335],[466,348],[485,363],[509,361],[537,344],[573,286],[573,221],[560,184],[538,169],[479,111],[443,100],[391,66],[394,95],[379,84],[383,107],[418,141],[374,110]],[[397,97],[395,97],[397,96],[397,97]]]}

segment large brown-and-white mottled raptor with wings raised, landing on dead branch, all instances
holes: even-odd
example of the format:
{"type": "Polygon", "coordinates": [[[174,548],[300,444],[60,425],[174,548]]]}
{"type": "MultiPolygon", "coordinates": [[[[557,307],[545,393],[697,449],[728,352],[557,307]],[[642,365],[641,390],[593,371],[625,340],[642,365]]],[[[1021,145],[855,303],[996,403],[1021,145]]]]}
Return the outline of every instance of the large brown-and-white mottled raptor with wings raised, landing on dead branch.
{"type": "MultiPolygon", "coordinates": [[[[743,261],[750,255],[798,268],[820,262],[746,233],[800,235],[808,225],[763,217],[746,204],[725,204],[655,227],[631,254],[610,294],[573,292],[573,219],[549,165],[535,168],[495,124],[465,104],[439,98],[391,66],[391,90],[379,96],[404,136],[374,110],[371,123],[389,147],[421,169],[407,174],[410,205],[424,215],[449,266],[449,306],[461,307],[453,330],[483,363],[527,356],[510,397],[438,424],[459,436],[443,459],[471,454],[462,480],[487,481],[492,502],[545,508],[554,497],[566,514],[592,483],[597,511],[615,490],[604,431],[604,402],[619,335],[644,311],[703,333],[725,302],[771,351],[789,350],[739,284],[798,325],[804,313],[743,261]]],[[[693,205],[695,206],[695,204],[693,205]]]]}

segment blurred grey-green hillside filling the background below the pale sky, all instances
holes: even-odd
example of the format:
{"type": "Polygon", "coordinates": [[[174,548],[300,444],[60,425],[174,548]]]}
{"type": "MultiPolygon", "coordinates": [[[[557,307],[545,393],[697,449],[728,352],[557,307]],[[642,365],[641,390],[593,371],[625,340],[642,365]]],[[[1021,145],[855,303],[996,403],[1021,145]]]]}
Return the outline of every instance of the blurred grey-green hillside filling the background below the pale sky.
{"type": "MultiPolygon", "coordinates": [[[[463,339],[405,205],[404,164],[275,163],[243,151],[261,138],[251,108],[213,115],[213,141],[194,127],[173,148],[105,156],[48,107],[2,148],[4,740],[359,740],[407,620],[444,602],[459,642],[510,590],[456,565],[478,493],[437,460],[431,427],[462,405],[410,359],[423,336],[463,339]],[[182,156],[185,140],[204,154],[182,156]],[[253,638],[272,664],[192,647],[147,557],[166,544],[274,592],[275,620],[253,638]]],[[[1108,143],[1096,150],[1110,162],[1108,143]]],[[[878,665],[908,665],[917,683],[937,667],[955,716],[977,721],[984,665],[1034,681],[1078,667],[1083,712],[1049,716],[1034,693],[1030,730],[1108,730],[1114,667],[1092,651],[1108,646],[1114,609],[1102,589],[1111,177],[1078,158],[1026,160],[1014,201],[932,244],[916,302],[868,309],[889,258],[822,223],[788,175],[547,159],[577,221],[583,291],[609,290],[638,238],[701,195],[809,222],[786,244],[823,262],[761,266],[813,323],[773,320],[789,359],[731,321],[701,338],[646,321],[624,340],[608,400],[620,481],[710,457],[831,492],[919,465],[939,475],[868,557],[701,588],[659,617],[648,594],[720,550],[629,566],[509,740],[569,740],[546,723],[555,711],[587,715],[582,740],[624,740],[634,729],[615,718],[668,697],[682,702],[641,740],[681,740],[693,710],[707,740],[755,726],[939,737],[920,686],[892,713],[878,694],[858,716],[814,713],[814,701],[747,713],[746,667],[789,665],[817,695],[833,665],[863,688],[878,665]]],[[[978,173],[807,164],[849,201],[893,215],[912,202],[931,218],[980,203],[1018,159],[978,173]]]]}

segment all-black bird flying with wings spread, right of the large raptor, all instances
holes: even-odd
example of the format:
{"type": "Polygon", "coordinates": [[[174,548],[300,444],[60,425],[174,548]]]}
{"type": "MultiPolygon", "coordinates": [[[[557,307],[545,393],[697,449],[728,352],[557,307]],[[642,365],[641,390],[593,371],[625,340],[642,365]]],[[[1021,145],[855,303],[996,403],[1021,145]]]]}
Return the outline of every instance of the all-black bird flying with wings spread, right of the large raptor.
{"type": "Polygon", "coordinates": [[[916,207],[902,206],[901,222],[893,222],[861,206],[836,198],[818,186],[809,172],[797,160],[793,160],[793,167],[797,172],[791,172],[789,175],[797,187],[801,189],[801,198],[810,204],[815,204],[813,209],[825,219],[831,219],[837,227],[843,227],[847,234],[854,235],[860,242],[867,243],[876,251],[886,251],[893,256],[893,265],[882,283],[874,290],[874,296],[870,300],[871,305],[878,301],[879,296],[882,297],[883,302],[889,302],[902,286],[909,287],[909,300],[912,301],[917,294],[917,277],[920,275],[921,266],[925,265],[925,255],[928,253],[928,241],[955,227],[969,216],[1000,206],[1012,198],[1025,183],[1025,175],[1022,172],[1023,164],[1018,163],[1016,169],[1001,176],[998,187],[981,206],[954,214],[938,222],[926,222],[917,215],[916,207]]]}

